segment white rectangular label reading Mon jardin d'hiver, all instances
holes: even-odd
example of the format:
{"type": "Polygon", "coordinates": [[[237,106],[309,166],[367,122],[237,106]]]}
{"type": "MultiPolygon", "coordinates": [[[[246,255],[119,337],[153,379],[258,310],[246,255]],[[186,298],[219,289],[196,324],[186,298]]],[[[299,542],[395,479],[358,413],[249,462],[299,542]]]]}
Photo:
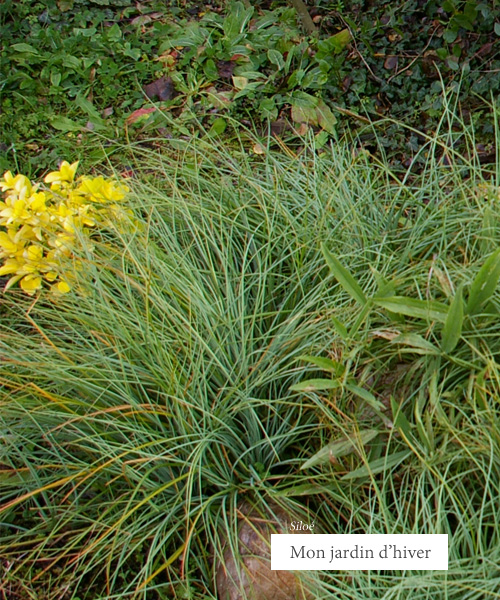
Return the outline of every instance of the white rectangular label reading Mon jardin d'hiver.
{"type": "Polygon", "coordinates": [[[447,534],[272,534],[273,571],[448,570],[447,534]]]}

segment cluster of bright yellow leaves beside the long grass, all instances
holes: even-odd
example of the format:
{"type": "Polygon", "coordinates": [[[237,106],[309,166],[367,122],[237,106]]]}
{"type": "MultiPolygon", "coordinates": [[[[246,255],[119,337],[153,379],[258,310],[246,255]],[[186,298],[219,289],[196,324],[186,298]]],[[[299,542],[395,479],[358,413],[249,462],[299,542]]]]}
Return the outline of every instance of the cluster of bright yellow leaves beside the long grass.
{"type": "Polygon", "coordinates": [[[104,177],[75,180],[77,167],[64,161],[45,177],[50,187],[10,171],[0,179],[0,276],[12,275],[5,290],[19,282],[28,294],[45,283],[53,292],[69,292],[64,263],[73,256],[77,236],[90,237],[127,213],[119,204],[127,186],[104,177]]]}

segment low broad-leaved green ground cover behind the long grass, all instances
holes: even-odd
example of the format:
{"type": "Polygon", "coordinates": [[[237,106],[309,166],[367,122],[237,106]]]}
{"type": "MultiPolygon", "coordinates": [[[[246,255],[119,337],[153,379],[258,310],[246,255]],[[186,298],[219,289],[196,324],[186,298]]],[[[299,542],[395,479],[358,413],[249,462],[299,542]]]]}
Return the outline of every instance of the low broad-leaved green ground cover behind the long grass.
{"type": "MultiPolygon", "coordinates": [[[[495,3],[318,0],[309,10],[317,31],[283,2],[3,2],[0,170],[90,166],[126,139],[200,135],[200,121],[217,134],[234,119],[270,122],[285,138],[312,127],[318,146],[380,116],[432,133],[443,88],[459,91],[474,121],[472,151],[494,160],[484,99],[500,91],[495,3]]],[[[397,161],[421,156],[419,131],[379,125],[397,161]]],[[[363,142],[373,151],[380,139],[363,142]]]]}

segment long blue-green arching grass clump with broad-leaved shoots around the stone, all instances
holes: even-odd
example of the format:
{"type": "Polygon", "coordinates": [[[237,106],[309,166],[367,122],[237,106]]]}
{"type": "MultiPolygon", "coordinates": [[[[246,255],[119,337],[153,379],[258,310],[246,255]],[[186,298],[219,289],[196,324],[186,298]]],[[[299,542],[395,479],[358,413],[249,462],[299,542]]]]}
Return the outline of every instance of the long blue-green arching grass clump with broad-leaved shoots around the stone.
{"type": "Polygon", "coordinates": [[[215,598],[245,501],[450,536],[448,572],[315,598],[496,597],[500,172],[441,122],[418,175],[311,133],[123,148],[144,228],[82,236],[68,294],[2,298],[6,594],[215,598]]]}

